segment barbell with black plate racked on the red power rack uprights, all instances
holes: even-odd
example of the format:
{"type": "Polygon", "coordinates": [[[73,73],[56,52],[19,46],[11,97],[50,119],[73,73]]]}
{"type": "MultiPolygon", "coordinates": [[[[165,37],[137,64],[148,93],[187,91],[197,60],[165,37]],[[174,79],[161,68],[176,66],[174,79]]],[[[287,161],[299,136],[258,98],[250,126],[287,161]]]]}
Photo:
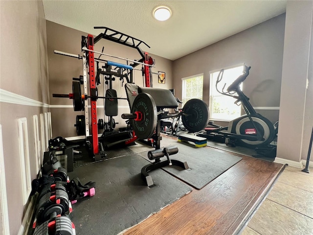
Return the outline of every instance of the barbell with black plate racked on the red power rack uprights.
{"type": "Polygon", "coordinates": [[[73,99],[74,111],[82,111],[84,109],[84,101],[88,98],[93,98],[95,100],[99,99],[127,99],[122,97],[107,97],[107,96],[98,96],[97,92],[94,95],[82,94],[80,82],[72,82],[72,93],[70,94],[52,94],[52,97],[59,98],[70,98],[73,99]]]}

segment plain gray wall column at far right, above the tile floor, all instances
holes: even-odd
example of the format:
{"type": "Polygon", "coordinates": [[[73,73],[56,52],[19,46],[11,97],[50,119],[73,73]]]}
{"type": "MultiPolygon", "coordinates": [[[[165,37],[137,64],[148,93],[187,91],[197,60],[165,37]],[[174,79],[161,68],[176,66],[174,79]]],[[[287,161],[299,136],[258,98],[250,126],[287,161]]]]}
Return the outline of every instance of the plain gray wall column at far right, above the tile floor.
{"type": "Polygon", "coordinates": [[[312,24],[313,1],[287,2],[277,157],[295,162],[306,159],[313,126],[312,24]]]}

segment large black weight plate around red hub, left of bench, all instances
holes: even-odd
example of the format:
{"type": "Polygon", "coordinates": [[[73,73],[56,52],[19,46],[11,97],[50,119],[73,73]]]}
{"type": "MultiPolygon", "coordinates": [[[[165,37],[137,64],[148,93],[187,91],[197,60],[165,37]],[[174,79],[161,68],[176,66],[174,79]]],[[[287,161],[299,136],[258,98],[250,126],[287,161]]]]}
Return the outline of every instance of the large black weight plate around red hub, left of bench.
{"type": "Polygon", "coordinates": [[[140,93],[136,96],[132,114],[135,112],[141,112],[143,116],[141,121],[131,119],[136,136],[141,140],[150,138],[156,129],[157,122],[156,102],[150,94],[140,93]]]}

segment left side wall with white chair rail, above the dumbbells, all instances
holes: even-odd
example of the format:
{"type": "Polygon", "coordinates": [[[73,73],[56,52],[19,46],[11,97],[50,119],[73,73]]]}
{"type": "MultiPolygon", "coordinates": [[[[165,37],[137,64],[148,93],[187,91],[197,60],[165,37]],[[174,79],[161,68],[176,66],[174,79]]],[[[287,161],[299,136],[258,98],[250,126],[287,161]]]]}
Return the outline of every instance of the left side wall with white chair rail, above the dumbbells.
{"type": "MultiPolygon", "coordinates": [[[[0,88],[49,103],[45,14],[42,1],[1,1],[0,88]]],[[[1,100],[3,99],[1,94],[1,100]]],[[[27,118],[31,178],[36,177],[32,116],[48,112],[42,105],[0,102],[10,234],[22,224],[23,200],[18,118],[27,118]]]]}

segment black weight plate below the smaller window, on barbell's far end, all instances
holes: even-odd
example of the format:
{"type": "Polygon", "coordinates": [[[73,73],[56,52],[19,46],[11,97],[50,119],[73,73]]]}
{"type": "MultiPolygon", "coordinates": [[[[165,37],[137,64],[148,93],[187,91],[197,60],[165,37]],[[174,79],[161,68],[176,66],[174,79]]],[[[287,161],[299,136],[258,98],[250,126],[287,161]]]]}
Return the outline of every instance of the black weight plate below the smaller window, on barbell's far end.
{"type": "Polygon", "coordinates": [[[189,132],[203,130],[209,122],[209,118],[209,107],[201,99],[190,99],[182,108],[182,124],[189,132]]]}

